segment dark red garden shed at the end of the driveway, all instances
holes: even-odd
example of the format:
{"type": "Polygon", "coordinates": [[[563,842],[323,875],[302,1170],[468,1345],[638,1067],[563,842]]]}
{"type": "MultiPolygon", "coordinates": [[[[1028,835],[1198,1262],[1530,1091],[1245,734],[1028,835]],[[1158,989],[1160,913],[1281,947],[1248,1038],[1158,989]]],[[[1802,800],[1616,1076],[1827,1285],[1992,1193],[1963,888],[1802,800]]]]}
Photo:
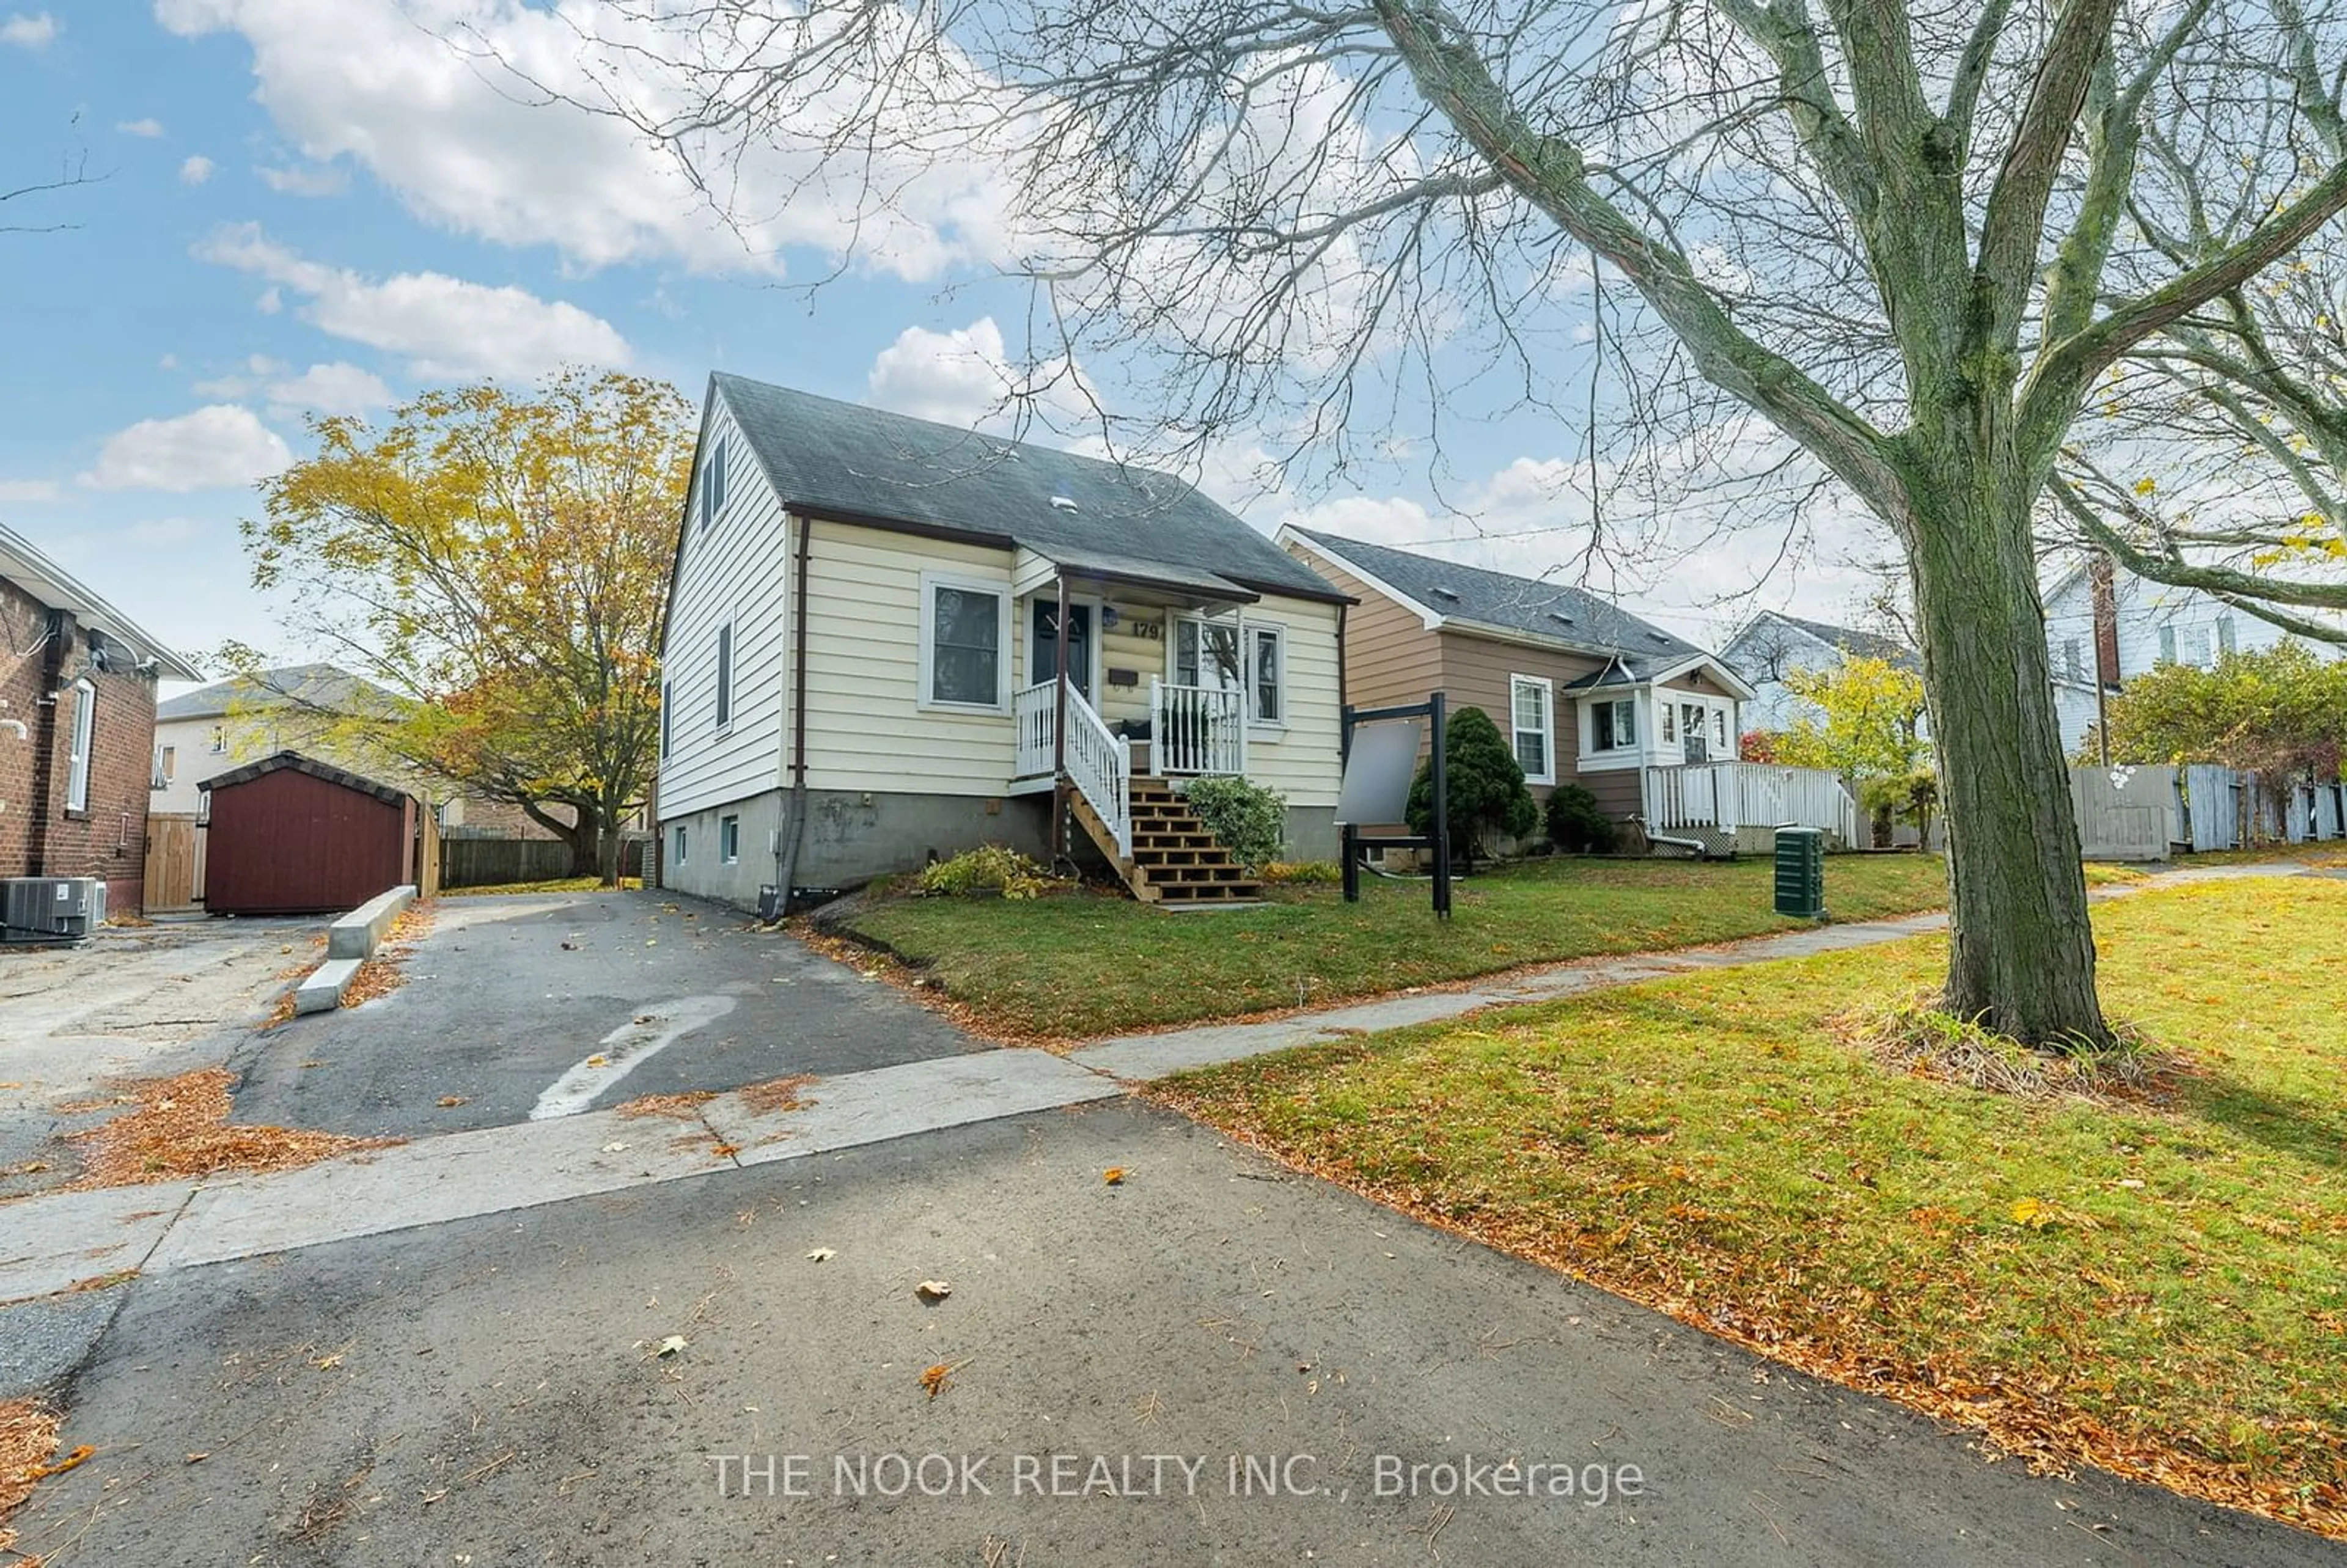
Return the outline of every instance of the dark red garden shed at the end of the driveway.
{"type": "Polygon", "coordinates": [[[279,751],[214,777],[204,908],[317,915],[366,904],[411,876],[415,798],[279,751]]]}

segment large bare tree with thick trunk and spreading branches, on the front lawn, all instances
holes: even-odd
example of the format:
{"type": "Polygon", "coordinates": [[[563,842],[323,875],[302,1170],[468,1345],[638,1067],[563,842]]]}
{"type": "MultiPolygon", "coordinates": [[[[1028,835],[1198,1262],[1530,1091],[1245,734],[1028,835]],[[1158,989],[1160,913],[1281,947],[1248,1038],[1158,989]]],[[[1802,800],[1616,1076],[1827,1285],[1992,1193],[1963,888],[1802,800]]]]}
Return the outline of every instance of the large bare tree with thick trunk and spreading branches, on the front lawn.
{"type": "MultiPolygon", "coordinates": [[[[568,12],[566,12],[568,14],[568,12]]],[[[1950,829],[1946,1005],[2101,1042],[2033,514],[2112,364],[2265,277],[2347,204],[2291,61],[2300,0],[617,0],[540,87],[629,115],[756,232],[868,223],[983,160],[983,261],[1037,286],[1037,359],[1110,357],[1183,439],[1263,432],[1342,474],[1443,411],[1587,404],[1603,289],[1643,462],[1779,432],[1913,589],[1950,829]],[[657,89],[643,89],[655,82],[657,89]],[[2239,150],[2244,223],[2169,254],[2159,127],[2239,150]],[[782,178],[782,195],[775,181],[782,178]],[[1626,289],[1624,289],[1626,284],[1626,289]],[[1420,413],[1425,411],[1425,413],[1420,413]]],[[[840,265],[854,263],[857,239],[840,265]]],[[[1781,460],[1784,448],[1774,448],[1781,460]]],[[[1788,469],[1791,472],[1791,469],[1788,469]]]]}

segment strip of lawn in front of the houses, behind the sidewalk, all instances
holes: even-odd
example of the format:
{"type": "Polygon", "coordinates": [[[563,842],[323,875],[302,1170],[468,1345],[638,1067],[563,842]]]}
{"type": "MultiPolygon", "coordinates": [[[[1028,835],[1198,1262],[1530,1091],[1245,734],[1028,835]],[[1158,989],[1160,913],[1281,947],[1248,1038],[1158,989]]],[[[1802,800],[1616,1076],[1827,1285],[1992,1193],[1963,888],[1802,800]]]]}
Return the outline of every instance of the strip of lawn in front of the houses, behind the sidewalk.
{"type": "MultiPolygon", "coordinates": [[[[1366,878],[1274,887],[1263,908],[1178,913],[1122,894],[1030,901],[885,899],[852,930],[932,969],[972,1021],[1005,1035],[1084,1038],[1333,1002],[1530,962],[1680,948],[1793,930],[1770,913],[1770,864],[1547,859],[1457,885],[1450,922],[1425,883],[1366,878]]],[[[1925,854],[1826,861],[1838,920],[1936,908],[1946,873],[1925,854]]]]}

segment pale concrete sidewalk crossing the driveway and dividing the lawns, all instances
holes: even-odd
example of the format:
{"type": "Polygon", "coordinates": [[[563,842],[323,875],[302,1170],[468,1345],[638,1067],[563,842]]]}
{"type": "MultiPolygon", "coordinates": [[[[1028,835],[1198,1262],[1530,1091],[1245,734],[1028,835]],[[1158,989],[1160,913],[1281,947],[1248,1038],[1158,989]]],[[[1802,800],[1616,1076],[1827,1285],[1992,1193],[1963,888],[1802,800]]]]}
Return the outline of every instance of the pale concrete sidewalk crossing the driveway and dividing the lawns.
{"type": "MultiPolygon", "coordinates": [[[[2101,890],[2246,876],[2300,876],[2305,866],[2218,866],[2101,890]]],[[[671,1183],[713,1169],[887,1143],[1115,1099],[1131,1084],[1345,1035],[1455,1019],[1483,1007],[1544,1002],[1650,979],[1810,958],[1941,930],[1946,915],[1826,925],[1713,948],[1631,953],[1521,969],[1460,991],[1425,991],[1258,1023],[1209,1023],[1101,1040],[1049,1056],[993,1049],[819,1077],[803,1110],[760,1115],[721,1094],[692,1122],[615,1110],[481,1127],[300,1171],[228,1176],[101,1192],[59,1192],[0,1204],[0,1303],[68,1291],[124,1270],[167,1272],[298,1246],[441,1225],[594,1192],[671,1183]]]]}

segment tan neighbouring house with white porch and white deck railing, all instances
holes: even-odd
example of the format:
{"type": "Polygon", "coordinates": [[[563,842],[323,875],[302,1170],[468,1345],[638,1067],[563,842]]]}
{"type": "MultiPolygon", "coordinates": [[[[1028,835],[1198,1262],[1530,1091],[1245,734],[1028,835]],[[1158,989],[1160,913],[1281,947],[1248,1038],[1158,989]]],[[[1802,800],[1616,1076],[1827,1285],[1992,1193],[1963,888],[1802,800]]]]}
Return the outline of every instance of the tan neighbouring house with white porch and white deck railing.
{"type": "Polygon", "coordinates": [[[1509,737],[1533,798],[1580,784],[1617,822],[1706,854],[1763,847],[1777,826],[1856,840],[1831,772],[1737,761],[1753,688],[1718,655],[1617,603],[1439,556],[1284,526],[1279,545],[1357,599],[1345,699],[1476,707],[1509,737]]]}

